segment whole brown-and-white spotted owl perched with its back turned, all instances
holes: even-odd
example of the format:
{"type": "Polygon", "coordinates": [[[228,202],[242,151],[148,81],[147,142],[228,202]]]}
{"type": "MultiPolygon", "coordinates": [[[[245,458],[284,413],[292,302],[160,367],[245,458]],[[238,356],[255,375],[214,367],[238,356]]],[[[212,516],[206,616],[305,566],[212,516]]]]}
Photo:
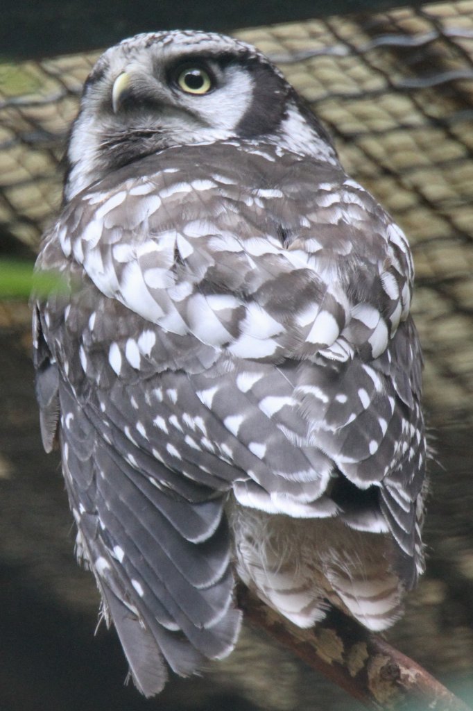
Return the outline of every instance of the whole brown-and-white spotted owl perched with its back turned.
{"type": "Polygon", "coordinates": [[[143,694],[232,651],[236,577],[300,627],[393,624],[423,571],[411,252],[267,58],[107,50],[36,269],[43,444],[143,694]]]}

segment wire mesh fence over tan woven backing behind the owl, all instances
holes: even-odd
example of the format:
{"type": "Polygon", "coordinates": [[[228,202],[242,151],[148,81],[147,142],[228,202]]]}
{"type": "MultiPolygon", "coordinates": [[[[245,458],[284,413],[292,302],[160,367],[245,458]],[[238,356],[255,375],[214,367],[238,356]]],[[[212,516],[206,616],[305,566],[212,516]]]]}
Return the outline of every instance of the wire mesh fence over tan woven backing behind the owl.
{"type": "MultiPolygon", "coordinates": [[[[473,419],[473,0],[235,33],[267,53],[408,233],[433,422],[473,419]]],[[[98,53],[0,64],[0,235],[36,246],[98,53]]]]}

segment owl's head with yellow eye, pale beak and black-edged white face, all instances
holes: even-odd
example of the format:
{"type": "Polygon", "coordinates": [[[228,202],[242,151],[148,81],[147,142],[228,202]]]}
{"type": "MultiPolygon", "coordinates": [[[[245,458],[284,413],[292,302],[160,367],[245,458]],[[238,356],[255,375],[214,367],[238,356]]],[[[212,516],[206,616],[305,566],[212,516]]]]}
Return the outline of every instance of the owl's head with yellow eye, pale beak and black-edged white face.
{"type": "Polygon", "coordinates": [[[277,141],[335,161],[325,131],[254,47],[214,33],[138,35],[107,50],[89,75],[65,201],[143,156],[226,139],[277,141]]]}

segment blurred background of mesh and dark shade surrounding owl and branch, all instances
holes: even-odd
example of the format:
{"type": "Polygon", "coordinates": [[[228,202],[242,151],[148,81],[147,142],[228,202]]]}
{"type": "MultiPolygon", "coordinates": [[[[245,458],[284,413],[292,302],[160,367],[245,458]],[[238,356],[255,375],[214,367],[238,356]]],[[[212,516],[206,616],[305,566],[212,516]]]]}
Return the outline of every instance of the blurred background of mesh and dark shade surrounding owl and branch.
{"type": "Polygon", "coordinates": [[[360,709],[246,627],[237,651],[203,678],[174,678],[150,701],[124,686],[114,632],[101,626],[94,637],[98,593],[75,564],[58,457],[40,444],[25,294],[60,203],[67,127],[99,50],[175,27],[225,31],[267,53],[329,129],[347,172],[411,240],[435,461],[428,571],[388,640],[473,702],[473,1],[399,4],[3,1],[1,710],[360,709]]]}

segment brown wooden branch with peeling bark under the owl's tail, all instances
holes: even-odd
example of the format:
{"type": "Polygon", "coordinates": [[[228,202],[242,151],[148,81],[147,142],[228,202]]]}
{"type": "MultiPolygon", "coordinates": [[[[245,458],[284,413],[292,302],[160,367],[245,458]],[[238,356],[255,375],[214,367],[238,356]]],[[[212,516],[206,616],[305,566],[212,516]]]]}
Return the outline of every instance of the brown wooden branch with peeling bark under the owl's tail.
{"type": "Polygon", "coordinates": [[[337,610],[300,629],[239,588],[246,619],[374,709],[472,711],[425,669],[337,610]]]}

